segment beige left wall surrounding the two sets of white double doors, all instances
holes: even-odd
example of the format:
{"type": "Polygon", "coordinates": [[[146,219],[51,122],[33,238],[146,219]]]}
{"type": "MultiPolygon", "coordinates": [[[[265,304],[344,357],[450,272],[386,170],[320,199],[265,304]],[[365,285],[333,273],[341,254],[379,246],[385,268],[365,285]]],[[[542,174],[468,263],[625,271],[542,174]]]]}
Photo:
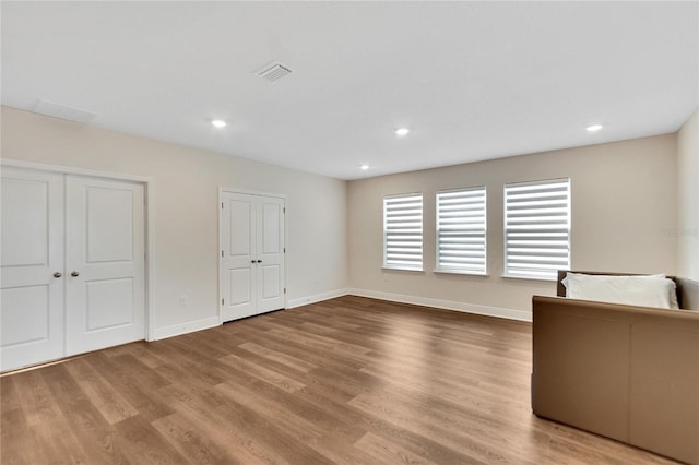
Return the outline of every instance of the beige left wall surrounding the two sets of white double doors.
{"type": "Polygon", "coordinates": [[[155,326],[189,331],[218,314],[218,188],[286,194],[287,298],[347,283],[346,182],[2,107],[2,157],[151,177],[155,326]],[[322,218],[322,220],[319,220],[322,218]],[[178,296],[188,305],[179,306],[178,296]]]}

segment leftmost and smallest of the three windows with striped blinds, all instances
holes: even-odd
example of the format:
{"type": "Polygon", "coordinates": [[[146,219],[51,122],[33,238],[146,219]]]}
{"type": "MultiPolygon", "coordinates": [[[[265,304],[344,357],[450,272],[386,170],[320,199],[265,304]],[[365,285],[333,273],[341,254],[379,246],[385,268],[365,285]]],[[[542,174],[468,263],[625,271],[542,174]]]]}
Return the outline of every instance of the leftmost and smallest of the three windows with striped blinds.
{"type": "Polygon", "coordinates": [[[423,194],[383,199],[383,266],[423,270],[423,194]]]}

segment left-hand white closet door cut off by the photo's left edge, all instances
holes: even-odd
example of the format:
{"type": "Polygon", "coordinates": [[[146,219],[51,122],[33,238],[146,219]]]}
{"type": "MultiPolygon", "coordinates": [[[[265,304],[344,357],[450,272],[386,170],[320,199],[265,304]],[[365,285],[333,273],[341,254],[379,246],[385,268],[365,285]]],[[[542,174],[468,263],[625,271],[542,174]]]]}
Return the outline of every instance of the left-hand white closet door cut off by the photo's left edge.
{"type": "Polygon", "coordinates": [[[2,169],[0,370],[63,356],[63,177],[2,169]]]}

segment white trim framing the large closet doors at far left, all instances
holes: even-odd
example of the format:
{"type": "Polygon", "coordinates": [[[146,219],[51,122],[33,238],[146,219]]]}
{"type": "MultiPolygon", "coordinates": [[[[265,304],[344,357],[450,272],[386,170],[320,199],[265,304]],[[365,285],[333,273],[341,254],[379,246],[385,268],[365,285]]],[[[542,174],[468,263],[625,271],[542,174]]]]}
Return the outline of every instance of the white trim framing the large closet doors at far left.
{"type": "MultiPolygon", "coordinates": [[[[155,225],[155,214],[154,214],[154,198],[155,198],[155,182],[153,178],[145,176],[134,176],[134,175],[122,175],[107,171],[97,171],[93,169],[84,169],[84,168],[75,168],[72,166],[60,166],[60,165],[45,165],[40,163],[33,162],[22,162],[16,159],[0,159],[0,167],[12,167],[12,168],[24,168],[24,169],[33,169],[37,171],[49,171],[49,172],[58,172],[61,175],[78,175],[78,176],[91,176],[96,178],[105,178],[105,179],[114,179],[119,181],[129,181],[129,182],[139,182],[144,187],[144,208],[145,215],[143,220],[145,222],[145,270],[144,270],[144,286],[145,286],[145,341],[155,341],[155,300],[154,293],[152,291],[153,283],[155,283],[155,276],[153,271],[155,266],[155,257],[153,253],[154,248],[151,245],[154,243],[154,225],[155,225]]],[[[218,308],[221,311],[221,307],[218,308]]]]}

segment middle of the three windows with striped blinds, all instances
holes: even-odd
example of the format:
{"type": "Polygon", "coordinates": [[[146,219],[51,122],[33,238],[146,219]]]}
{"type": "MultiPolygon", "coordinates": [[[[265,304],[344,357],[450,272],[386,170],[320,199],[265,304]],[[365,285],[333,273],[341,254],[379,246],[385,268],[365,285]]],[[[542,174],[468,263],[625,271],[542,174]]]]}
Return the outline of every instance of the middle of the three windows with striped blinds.
{"type": "Polygon", "coordinates": [[[485,186],[437,192],[437,271],[486,274],[485,186]]]}

